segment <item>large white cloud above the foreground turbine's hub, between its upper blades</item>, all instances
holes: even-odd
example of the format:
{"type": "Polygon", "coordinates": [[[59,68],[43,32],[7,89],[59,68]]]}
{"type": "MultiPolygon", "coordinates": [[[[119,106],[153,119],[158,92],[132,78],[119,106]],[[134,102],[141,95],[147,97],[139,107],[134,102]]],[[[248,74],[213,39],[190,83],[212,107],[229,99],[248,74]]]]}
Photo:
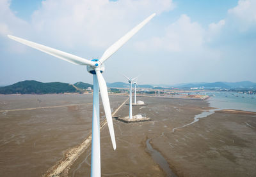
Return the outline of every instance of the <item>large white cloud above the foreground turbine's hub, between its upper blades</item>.
{"type": "Polygon", "coordinates": [[[33,13],[31,26],[63,45],[105,49],[147,16],[172,8],[172,0],[47,0],[33,13]]]}

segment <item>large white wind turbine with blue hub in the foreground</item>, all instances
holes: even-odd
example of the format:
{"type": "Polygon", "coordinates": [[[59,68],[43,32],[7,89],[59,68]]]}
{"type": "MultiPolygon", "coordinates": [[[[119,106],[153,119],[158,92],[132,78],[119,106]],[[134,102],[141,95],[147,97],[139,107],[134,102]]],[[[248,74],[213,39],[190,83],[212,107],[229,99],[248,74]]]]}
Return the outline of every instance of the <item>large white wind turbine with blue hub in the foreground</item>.
{"type": "Polygon", "coordinates": [[[76,55],[72,55],[70,53],[62,52],[60,50],[56,50],[49,46],[40,45],[38,43],[34,43],[28,41],[26,39],[18,38],[15,36],[8,35],[9,38],[18,41],[24,45],[31,46],[37,50],[48,53],[54,57],[57,57],[62,60],[66,60],[67,62],[71,62],[72,64],[78,65],[86,65],[87,71],[90,74],[93,74],[93,115],[92,115],[92,161],[91,161],[91,176],[100,176],[100,114],[99,114],[99,90],[100,95],[106,115],[106,119],[108,122],[109,134],[111,137],[112,145],[114,150],[116,149],[116,141],[115,141],[115,132],[112,122],[111,109],[109,105],[109,97],[108,97],[108,88],[106,85],[106,81],[102,76],[102,72],[104,72],[104,62],[113,55],[122,45],[124,45],[136,32],[138,32],[145,24],[147,24],[156,13],[153,13],[148,18],[143,20],[140,24],[134,27],[131,31],[127,32],[125,36],[116,41],[113,45],[109,46],[109,48],[103,53],[102,57],[93,60],[86,60],[81,57],[77,57],[76,55]]]}

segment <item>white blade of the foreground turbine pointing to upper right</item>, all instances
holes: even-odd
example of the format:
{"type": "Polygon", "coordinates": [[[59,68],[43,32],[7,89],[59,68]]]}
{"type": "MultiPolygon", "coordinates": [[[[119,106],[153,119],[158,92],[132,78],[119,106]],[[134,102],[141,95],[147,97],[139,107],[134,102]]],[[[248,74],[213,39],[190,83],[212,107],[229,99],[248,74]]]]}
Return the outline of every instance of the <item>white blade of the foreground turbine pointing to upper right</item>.
{"type": "Polygon", "coordinates": [[[103,63],[105,60],[107,60],[113,53],[115,53],[122,45],[124,45],[136,32],[138,32],[145,24],[147,24],[156,13],[153,13],[148,18],[146,18],[143,22],[138,24],[136,27],[134,27],[131,31],[127,32],[125,36],[120,38],[118,41],[116,41],[113,45],[109,46],[109,48],[103,53],[102,57],[100,58],[100,62],[103,63]]]}

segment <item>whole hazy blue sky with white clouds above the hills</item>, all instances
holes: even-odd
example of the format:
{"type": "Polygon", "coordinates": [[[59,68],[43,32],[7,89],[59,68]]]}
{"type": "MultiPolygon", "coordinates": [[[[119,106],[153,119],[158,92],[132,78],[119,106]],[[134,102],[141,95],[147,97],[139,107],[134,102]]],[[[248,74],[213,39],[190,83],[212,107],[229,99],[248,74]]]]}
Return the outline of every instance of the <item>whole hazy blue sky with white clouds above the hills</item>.
{"type": "Polygon", "coordinates": [[[109,83],[256,82],[256,0],[0,0],[0,85],[22,80],[92,83],[77,66],[22,45],[7,34],[99,59],[152,13],[105,62],[109,83]]]}

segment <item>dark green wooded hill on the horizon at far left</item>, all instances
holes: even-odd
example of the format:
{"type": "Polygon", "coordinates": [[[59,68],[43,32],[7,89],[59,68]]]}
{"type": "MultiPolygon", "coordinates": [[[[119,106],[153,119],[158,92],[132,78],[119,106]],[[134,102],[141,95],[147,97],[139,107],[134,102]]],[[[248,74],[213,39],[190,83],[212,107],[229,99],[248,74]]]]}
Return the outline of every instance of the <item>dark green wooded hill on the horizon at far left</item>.
{"type": "Polygon", "coordinates": [[[42,83],[35,80],[19,81],[13,85],[0,88],[0,94],[61,94],[74,92],[79,92],[79,90],[69,83],[42,83]]]}

